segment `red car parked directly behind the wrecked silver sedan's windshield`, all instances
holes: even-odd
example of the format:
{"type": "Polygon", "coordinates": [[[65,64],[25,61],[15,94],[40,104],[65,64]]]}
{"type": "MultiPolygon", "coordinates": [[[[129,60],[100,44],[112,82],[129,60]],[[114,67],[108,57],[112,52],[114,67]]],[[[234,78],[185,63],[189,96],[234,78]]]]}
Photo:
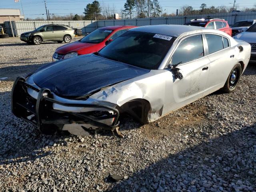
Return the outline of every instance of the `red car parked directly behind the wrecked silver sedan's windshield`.
{"type": "Polygon", "coordinates": [[[76,42],[57,48],[52,56],[52,60],[57,61],[97,52],[127,30],[135,27],[136,26],[108,26],[96,29],[76,42]]]}

